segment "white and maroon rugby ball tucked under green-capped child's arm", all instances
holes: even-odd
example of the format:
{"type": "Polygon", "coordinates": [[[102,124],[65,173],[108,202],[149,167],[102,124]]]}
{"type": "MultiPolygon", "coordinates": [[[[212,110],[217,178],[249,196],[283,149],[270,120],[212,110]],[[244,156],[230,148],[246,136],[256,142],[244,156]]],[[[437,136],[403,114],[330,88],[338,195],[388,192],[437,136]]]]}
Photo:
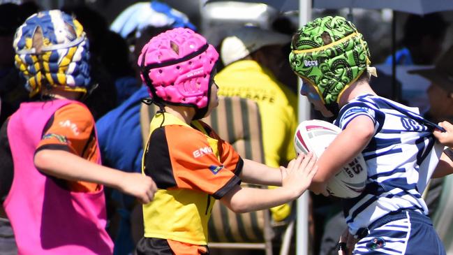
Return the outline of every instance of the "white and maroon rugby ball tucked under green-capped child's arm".
{"type": "MultiPolygon", "coordinates": [[[[318,119],[306,120],[297,126],[294,136],[295,150],[298,155],[313,152],[320,158],[340,132],[341,129],[332,123],[318,119]]],[[[359,154],[327,182],[327,191],[339,198],[359,196],[365,188],[366,169],[364,157],[359,154]]]]}

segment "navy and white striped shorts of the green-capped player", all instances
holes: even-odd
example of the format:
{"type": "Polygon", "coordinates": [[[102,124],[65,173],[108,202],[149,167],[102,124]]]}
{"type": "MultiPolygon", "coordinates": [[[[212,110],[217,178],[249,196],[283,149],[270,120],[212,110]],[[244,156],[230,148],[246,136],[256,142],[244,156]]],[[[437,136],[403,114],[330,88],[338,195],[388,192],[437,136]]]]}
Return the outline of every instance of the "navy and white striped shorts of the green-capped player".
{"type": "Polygon", "coordinates": [[[445,249],[429,217],[404,210],[374,221],[353,254],[443,255],[445,249]]]}

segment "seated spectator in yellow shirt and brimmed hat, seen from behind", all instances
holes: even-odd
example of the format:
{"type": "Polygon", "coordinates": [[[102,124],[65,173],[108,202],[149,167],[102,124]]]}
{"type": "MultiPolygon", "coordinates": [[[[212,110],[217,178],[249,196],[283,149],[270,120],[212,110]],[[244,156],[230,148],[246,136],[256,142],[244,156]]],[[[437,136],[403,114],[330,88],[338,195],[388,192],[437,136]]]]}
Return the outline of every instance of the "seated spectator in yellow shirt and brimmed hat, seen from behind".
{"type": "MultiPolygon", "coordinates": [[[[221,43],[225,68],[216,75],[220,96],[239,96],[258,103],[265,163],[284,166],[295,157],[292,142],[297,127],[297,87],[288,66],[290,36],[258,27],[233,30],[221,43]],[[292,84],[283,84],[292,77],[292,84]],[[279,80],[279,78],[281,78],[279,80]]],[[[275,221],[290,214],[289,205],[272,208],[275,221]]]]}

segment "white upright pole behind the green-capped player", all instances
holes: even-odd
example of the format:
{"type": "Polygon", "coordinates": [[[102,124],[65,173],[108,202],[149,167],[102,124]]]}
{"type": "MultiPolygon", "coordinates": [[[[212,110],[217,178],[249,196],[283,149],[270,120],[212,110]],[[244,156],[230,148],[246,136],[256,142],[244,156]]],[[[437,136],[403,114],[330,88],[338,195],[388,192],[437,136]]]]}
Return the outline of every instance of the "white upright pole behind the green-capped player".
{"type": "MultiPolygon", "coordinates": [[[[299,0],[299,27],[311,20],[311,0],[299,0]]],[[[299,90],[302,81],[299,79],[299,90]]],[[[299,123],[310,119],[310,103],[299,94],[299,123]]],[[[297,199],[296,254],[309,254],[309,191],[297,199]]]]}

